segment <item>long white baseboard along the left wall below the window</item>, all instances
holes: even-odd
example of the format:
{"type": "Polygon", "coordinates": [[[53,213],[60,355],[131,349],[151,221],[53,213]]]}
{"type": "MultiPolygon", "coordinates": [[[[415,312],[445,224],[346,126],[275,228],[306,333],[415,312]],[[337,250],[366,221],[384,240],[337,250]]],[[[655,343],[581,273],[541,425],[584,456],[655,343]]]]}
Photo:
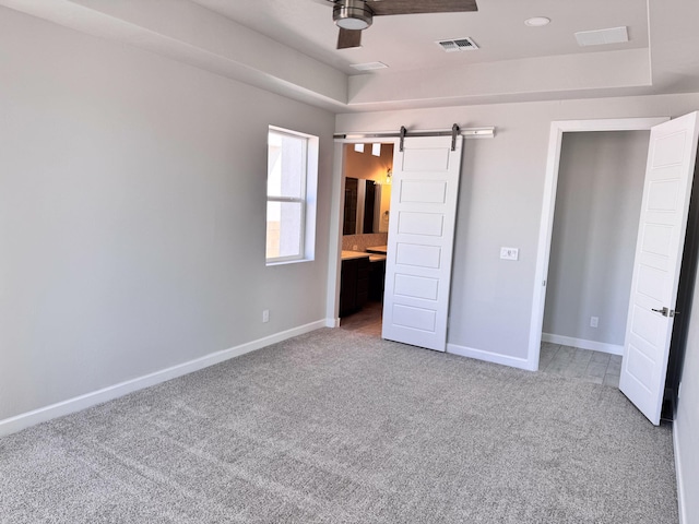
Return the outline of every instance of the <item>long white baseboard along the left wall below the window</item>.
{"type": "Polygon", "coordinates": [[[132,393],[144,388],[150,388],[151,385],[159,384],[161,382],[165,382],[167,380],[171,380],[177,377],[181,377],[183,374],[208,368],[209,366],[213,366],[215,364],[239,357],[240,355],[245,355],[246,353],[261,349],[262,347],[269,346],[271,344],[275,344],[294,336],[303,335],[304,333],[309,333],[320,327],[325,327],[327,324],[327,320],[311,322],[309,324],[300,325],[287,331],[282,331],[280,333],[275,333],[257,341],[248,342],[229,349],[223,349],[221,352],[212,353],[204,357],[196,358],[194,360],[189,360],[188,362],[162,369],[159,371],[155,371],[137,379],[127,380],[126,382],[120,382],[118,384],[93,391],[74,398],[69,398],[67,401],[40,407],[32,412],[22,413],[14,417],[5,418],[4,420],[0,420],[0,437],[15,433],[17,431],[21,431],[22,429],[40,422],[45,422],[52,418],[62,417],[63,415],[69,415],[71,413],[75,413],[81,409],[102,404],[103,402],[118,398],[128,393],[132,393]]]}

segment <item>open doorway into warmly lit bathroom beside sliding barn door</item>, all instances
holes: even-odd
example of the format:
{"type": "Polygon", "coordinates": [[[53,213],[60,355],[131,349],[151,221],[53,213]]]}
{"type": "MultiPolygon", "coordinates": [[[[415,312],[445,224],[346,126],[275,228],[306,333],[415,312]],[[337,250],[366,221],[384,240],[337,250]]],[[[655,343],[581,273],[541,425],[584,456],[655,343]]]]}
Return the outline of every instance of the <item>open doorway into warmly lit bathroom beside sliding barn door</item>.
{"type": "Polygon", "coordinates": [[[381,336],[392,142],[344,144],[340,327],[381,336]]]}

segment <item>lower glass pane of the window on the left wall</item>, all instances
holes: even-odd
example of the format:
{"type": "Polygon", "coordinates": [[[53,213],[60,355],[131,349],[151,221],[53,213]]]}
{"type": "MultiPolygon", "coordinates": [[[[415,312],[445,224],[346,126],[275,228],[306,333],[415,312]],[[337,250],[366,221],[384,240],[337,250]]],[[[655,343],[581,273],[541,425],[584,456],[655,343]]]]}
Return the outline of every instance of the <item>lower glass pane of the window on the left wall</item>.
{"type": "Polygon", "coordinates": [[[266,203],[266,258],[301,257],[304,206],[300,202],[266,203]]]}

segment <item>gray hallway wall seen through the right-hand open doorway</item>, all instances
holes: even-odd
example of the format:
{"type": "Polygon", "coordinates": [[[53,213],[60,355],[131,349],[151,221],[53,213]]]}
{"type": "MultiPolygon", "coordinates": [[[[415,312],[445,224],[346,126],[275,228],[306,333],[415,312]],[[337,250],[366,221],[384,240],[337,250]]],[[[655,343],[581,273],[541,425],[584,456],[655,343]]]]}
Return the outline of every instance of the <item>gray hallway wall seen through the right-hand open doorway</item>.
{"type": "Polygon", "coordinates": [[[649,135],[564,134],[544,333],[624,345],[649,135]]]}

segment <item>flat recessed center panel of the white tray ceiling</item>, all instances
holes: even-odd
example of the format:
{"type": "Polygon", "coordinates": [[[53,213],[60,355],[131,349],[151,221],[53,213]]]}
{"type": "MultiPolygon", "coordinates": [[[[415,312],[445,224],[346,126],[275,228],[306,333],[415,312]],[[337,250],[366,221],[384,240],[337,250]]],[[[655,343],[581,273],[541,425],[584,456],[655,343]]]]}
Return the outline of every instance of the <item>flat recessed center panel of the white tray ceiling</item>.
{"type": "Polygon", "coordinates": [[[193,1],[347,74],[357,74],[352,63],[375,61],[406,71],[648,47],[645,0],[477,0],[477,12],[376,16],[362,48],[342,50],[335,50],[337,28],[327,0],[193,1]],[[524,25],[540,15],[552,23],[524,25]],[[578,31],[618,26],[629,28],[629,43],[604,48],[576,43],[578,31]],[[464,36],[479,50],[447,53],[435,44],[464,36]]]}

